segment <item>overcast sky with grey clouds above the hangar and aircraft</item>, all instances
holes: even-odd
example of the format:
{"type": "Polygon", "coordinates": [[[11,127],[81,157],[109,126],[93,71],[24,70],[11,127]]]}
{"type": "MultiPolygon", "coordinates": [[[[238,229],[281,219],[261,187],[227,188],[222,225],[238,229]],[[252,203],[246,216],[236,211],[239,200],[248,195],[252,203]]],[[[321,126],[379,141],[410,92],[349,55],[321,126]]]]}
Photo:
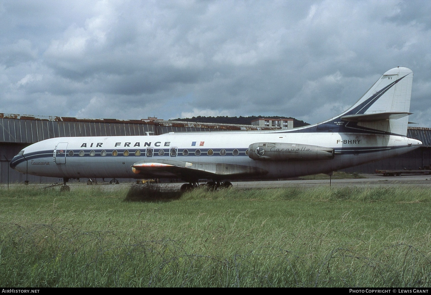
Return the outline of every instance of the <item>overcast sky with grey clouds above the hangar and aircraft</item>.
{"type": "Polygon", "coordinates": [[[431,1],[0,2],[0,113],[316,123],[387,70],[431,127],[431,1]]]}

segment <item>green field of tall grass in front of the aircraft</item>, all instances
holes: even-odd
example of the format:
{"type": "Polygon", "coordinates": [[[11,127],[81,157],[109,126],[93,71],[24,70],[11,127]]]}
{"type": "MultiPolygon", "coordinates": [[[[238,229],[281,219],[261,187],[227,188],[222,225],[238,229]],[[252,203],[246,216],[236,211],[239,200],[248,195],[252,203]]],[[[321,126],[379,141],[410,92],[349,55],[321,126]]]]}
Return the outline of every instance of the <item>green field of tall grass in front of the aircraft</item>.
{"type": "Polygon", "coordinates": [[[1,189],[4,287],[430,287],[425,188],[1,189]]]}

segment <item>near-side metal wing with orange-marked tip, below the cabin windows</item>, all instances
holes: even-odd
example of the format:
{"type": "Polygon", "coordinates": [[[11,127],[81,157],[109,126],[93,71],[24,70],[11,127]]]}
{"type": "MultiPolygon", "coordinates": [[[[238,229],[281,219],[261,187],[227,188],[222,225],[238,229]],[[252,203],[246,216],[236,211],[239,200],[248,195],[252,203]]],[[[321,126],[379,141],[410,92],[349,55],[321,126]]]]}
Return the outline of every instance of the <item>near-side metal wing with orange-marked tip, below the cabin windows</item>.
{"type": "Polygon", "coordinates": [[[186,181],[197,179],[228,179],[231,176],[259,176],[267,170],[226,163],[191,163],[178,160],[140,161],[132,165],[132,170],[143,178],[177,177],[186,181]]]}

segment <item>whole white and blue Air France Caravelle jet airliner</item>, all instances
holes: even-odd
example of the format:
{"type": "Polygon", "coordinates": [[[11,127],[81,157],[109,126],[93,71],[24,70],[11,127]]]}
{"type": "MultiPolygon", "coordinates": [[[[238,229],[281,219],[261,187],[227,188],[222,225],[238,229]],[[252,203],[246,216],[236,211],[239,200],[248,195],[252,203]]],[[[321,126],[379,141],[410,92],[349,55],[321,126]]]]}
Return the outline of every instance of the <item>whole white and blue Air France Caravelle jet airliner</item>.
{"type": "Polygon", "coordinates": [[[397,156],[421,141],[407,138],[413,73],[385,72],[348,110],[324,122],[289,130],[170,132],[154,136],[63,137],[31,144],[10,166],[37,176],[176,178],[182,190],[212,179],[278,179],[335,170],[397,156]]]}

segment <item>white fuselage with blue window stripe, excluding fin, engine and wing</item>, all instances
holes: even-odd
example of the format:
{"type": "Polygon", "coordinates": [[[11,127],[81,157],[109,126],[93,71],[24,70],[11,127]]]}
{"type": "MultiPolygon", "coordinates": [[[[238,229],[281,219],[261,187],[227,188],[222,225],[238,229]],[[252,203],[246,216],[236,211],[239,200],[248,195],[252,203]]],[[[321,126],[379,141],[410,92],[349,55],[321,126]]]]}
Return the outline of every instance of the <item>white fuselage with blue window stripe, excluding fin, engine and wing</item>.
{"type": "MultiPolygon", "coordinates": [[[[14,157],[11,166],[22,173],[65,178],[180,178],[160,170],[147,175],[136,174],[131,168],[140,161],[150,163],[165,159],[256,167],[267,173],[255,178],[277,179],[330,173],[403,154],[421,144],[421,141],[405,136],[331,132],[195,132],[157,136],[68,137],[31,144],[21,155],[14,157]],[[247,149],[256,142],[310,144],[334,148],[335,155],[328,160],[253,160],[248,156],[247,149]],[[175,152],[170,152],[172,148],[175,152]],[[200,155],[197,155],[199,151],[200,155]]],[[[244,175],[238,178],[244,178],[244,175]]]]}

